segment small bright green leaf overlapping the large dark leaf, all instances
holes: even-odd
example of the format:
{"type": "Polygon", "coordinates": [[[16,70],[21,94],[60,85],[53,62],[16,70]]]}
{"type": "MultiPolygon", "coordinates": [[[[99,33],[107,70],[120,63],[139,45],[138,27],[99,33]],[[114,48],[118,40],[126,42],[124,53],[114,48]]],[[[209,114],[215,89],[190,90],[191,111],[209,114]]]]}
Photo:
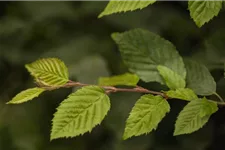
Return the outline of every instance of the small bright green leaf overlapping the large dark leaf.
{"type": "Polygon", "coordinates": [[[174,72],[173,70],[169,69],[168,67],[165,66],[161,66],[159,65],[157,67],[160,75],[163,77],[163,79],[166,82],[166,85],[170,88],[170,89],[178,89],[178,88],[185,88],[185,80],[178,75],[176,72],[174,72]]]}

